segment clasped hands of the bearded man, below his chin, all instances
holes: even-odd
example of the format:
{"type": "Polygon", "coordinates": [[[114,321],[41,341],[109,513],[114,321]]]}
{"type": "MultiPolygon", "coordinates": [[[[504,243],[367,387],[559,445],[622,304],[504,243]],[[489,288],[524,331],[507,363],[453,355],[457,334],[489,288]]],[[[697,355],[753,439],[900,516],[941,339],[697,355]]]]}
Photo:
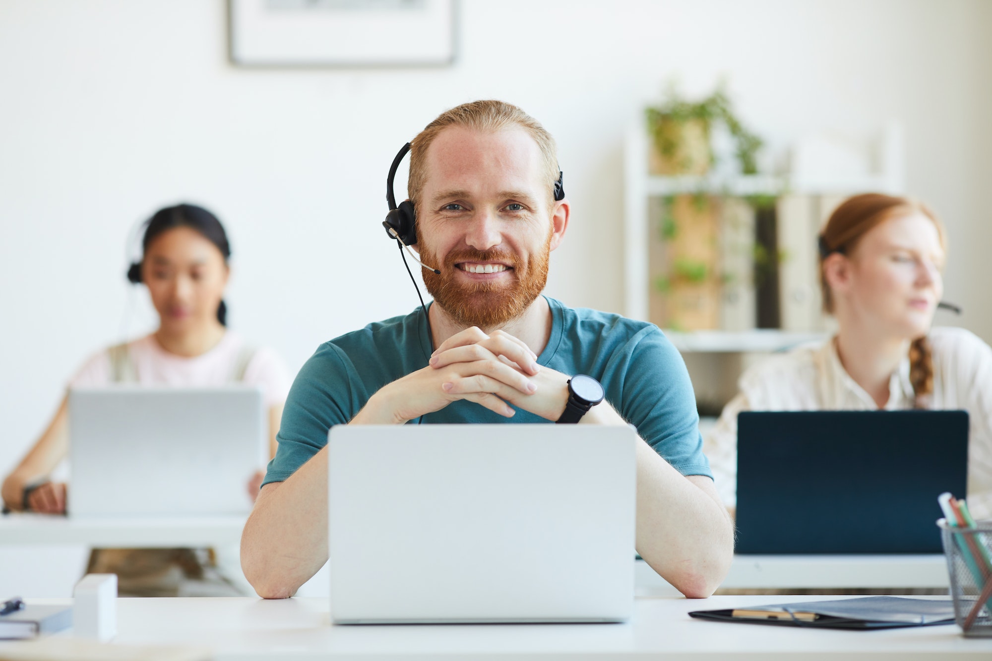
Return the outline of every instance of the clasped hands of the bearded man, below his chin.
{"type": "Polygon", "coordinates": [[[403,424],[459,399],[511,418],[514,406],[556,421],[568,400],[568,376],[537,362],[508,332],[472,327],[448,337],[431,364],[380,389],[353,422],[403,424]]]}

